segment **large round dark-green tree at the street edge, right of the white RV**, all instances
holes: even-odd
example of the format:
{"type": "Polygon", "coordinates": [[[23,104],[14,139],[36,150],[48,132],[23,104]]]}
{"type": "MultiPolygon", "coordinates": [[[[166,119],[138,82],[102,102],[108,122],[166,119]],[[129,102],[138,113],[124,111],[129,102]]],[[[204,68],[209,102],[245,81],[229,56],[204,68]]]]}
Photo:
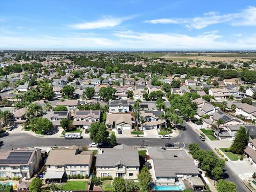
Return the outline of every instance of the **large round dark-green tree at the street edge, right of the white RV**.
{"type": "Polygon", "coordinates": [[[90,139],[96,143],[104,143],[108,141],[109,132],[104,123],[94,122],[90,128],[90,139]]]}

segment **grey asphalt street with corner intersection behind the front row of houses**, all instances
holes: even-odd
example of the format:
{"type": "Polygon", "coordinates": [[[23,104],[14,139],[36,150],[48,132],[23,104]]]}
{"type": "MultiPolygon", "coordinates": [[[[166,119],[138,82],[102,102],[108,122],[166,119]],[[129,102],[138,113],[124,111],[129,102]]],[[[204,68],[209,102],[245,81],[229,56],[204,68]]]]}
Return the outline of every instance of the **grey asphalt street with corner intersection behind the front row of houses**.
{"type": "MultiPolygon", "coordinates": [[[[180,130],[179,135],[170,140],[158,139],[158,138],[118,138],[118,143],[123,143],[129,146],[139,146],[140,141],[141,145],[144,141],[144,144],[148,147],[159,146],[163,147],[166,142],[173,142],[176,147],[181,147],[188,149],[188,145],[191,142],[199,143],[202,149],[211,150],[211,148],[203,141],[198,138],[197,133],[190,127],[189,124],[184,122],[184,125],[187,127],[186,130],[180,130]],[[184,145],[185,144],[185,145],[184,145]]],[[[91,140],[89,138],[84,138],[80,140],[65,140],[64,138],[43,138],[43,137],[34,137],[33,135],[27,133],[11,133],[7,137],[0,138],[0,152],[15,149],[17,147],[48,147],[48,146],[89,146],[91,140]]],[[[229,167],[225,167],[227,180],[233,181],[236,183],[237,191],[249,191],[246,188],[244,183],[234,174],[229,167]]]]}

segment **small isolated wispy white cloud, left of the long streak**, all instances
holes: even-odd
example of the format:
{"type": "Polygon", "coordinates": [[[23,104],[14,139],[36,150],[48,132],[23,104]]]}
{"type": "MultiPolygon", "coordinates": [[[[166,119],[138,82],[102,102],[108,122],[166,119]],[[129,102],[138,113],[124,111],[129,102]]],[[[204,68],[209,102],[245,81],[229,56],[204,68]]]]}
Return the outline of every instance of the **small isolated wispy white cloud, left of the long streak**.
{"type": "Polygon", "coordinates": [[[97,21],[91,22],[83,22],[76,23],[73,25],[69,25],[71,28],[75,29],[101,29],[101,28],[111,28],[120,25],[123,21],[132,19],[132,17],[124,17],[124,18],[113,18],[106,17],[97,21]]]}

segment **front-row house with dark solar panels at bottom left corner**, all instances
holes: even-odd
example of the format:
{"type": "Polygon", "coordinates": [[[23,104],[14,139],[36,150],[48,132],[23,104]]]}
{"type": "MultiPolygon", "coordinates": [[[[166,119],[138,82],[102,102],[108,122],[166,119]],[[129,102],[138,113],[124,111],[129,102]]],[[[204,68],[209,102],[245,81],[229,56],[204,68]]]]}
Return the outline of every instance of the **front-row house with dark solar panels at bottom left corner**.
{"type": "Polygon", "coordinates": [[[42,161],[41,149],[17,149],[0,155],[0,178],[34,177],[42,161]]]}

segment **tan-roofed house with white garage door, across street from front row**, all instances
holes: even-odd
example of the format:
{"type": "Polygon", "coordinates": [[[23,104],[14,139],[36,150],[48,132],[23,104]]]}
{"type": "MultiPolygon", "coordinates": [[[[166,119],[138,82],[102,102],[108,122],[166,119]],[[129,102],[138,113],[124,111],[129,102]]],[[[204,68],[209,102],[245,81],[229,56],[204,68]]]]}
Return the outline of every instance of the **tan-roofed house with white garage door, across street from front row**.
{"type": "Polygon", "coordinates": [[[131,130],[132,115],[131,114],[107,114],[105,125],[109,129],[131,130]]]}

